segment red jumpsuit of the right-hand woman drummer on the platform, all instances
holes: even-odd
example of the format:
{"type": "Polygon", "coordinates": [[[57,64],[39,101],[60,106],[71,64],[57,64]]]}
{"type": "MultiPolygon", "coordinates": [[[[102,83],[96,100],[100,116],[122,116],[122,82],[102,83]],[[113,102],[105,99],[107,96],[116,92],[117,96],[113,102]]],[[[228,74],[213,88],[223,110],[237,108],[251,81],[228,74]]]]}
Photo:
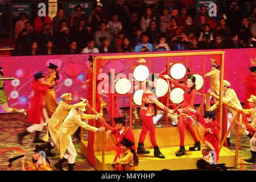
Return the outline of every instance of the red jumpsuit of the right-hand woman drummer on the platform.
{"type": "MultiPolygon", "coordinates": [[[[176,80],[174,80],[173,84],[177,87],[177,88],[181,88],[183,89],[184,92],[184,101],[183,101],[183,107],[188,107],[191,106],[194,108],[194,102],[195,102],[195,98],[196,98],[196,90],[193,89],[191,91],[190,94],[188,94],[189,92],[189,88],[187,85],[183,85],[183,84],[179,84],[176,80]]],[[[188,115],[192,115],[191,113],[187,113],[188,115]]],[[[189,134],[191,135],[191,137],[193,138],[193,140],[195,142],[197,142],[197,138],[196,138],[196,133],[193,130],[193,127],[191,126],[191,119],[187,118],[187,117],[179,117],[179,122],[178,122],[178,129],[179,129],[179,133],[180,133],[180,146],[184,146],[184,139],[185,139],[185,129],[188,130],[189,134]]]]}

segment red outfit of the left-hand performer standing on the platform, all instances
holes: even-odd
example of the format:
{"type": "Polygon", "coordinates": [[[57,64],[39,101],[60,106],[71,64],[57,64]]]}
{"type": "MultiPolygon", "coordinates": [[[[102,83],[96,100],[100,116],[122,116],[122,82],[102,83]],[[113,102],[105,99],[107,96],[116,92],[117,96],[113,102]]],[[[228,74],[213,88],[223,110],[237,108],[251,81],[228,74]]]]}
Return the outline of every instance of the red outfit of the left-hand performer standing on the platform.
{"type": "MultiPolygon", "coordinates": [[[[142,106],[145,104],[148,104],[148,106],[152,106],[152,103],[149,100],[152,100],[155,98],[154,93],[152,93],[150,90],[146,90],[145,93],[142,95],[142,106]]],[[[143,107],[141,109],[141,118],[142,118],[142,130],[141,130],[141,135],[139,135],[139,143],[144,143],[144,140],[147,135],[147,131],[149,131],[150,134],[150,142],[153,147],[158,146],[156,144],[156,139],[155,139],[155,126],[153,123],[153,114],[146,114],[143,112],[143,107]]]]}

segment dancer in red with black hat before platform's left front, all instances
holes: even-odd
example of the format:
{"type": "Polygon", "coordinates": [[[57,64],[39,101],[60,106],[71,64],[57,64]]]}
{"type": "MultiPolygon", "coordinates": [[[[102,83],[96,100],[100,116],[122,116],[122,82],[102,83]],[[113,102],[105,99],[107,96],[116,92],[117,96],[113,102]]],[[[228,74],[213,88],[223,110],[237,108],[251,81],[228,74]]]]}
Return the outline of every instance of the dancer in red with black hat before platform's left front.
{"type": "MultiPolygon", "coordinates": [[[[115,121],[115,128],[112,130],[108,130],[107,135],[113,134],[115,137],[115,141],[116,141],[115,144],[117,146],[117,154],[115,155],[115,159],[114,159],[114,162],[115,162],[118,156],[122,154],[121,142],[123,141],[123,138],[129,139],[133,143],[135,143],[135,139],[134,139],[133,131],[131,131],[131,129],[126,125],[126,117],[117,117],[117,118],[114,118],[114,121],[115,121]]],[[[131,148],[133,148],[133,150],[136,151],[135,145],[133,145],[131,148]]]]}

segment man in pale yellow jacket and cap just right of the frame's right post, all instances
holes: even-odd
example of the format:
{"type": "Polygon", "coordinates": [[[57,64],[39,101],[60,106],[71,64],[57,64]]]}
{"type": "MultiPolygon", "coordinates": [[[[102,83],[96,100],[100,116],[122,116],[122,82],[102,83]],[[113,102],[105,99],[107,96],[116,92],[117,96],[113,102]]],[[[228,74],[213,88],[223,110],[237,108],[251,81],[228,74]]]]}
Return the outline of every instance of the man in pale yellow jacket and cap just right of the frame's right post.
{"type": "MultiPolygon", "coordinates": [[[[224,93],[223,93],[223,102],[226,103],[226,104],[229,104],[233,107],[236,107],[237,109],[242,109],[242,106],[241,106],[241,103],[240,101],[238,100],[238,97],[237,97],[237,94],[236,92],[234,91],[234,89],[230,89],[230,82],[227,81],[227,80],[223,80],[223,90],[224,90],[224,93]]],[[[220,102],[216,102],[212,107],[210,107],[210,111],[213,111],[215,109],[217,109],[217,107],[219,106],[220,102]]],[[[233,110],[232,108],[230,107],[227,107],[227,109],[232,113],[233,117],[236,115],[236,111],[233,110]]],[[[228,127],[227,129],[229,128],[230,126],[230,123],[228,122],[228,127]]],[[[230,133],[228,134],[228,137],[226,138],[227,142],[228,142],[228,146],[230,145],[230,133]]]]}

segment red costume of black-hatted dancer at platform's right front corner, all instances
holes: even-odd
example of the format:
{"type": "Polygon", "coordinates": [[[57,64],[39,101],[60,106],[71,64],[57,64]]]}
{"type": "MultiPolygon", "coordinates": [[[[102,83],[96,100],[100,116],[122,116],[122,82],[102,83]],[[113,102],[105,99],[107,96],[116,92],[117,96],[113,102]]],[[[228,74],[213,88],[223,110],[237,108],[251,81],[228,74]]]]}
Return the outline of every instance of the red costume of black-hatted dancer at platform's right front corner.
{"type": "Polygon", "coordinates": [[[212,130],[212,133],[204,133],[204,140],[207,140],[208,142],[210,142],[215,151],[216,151],[216,161],[218,162],[218,135],[220,133],[220,124],[214,120],[212,121],[212,123],[205,123],[204,122],[204,118],[201,117],[201,115],[199,113],[195,113],[196,118],[198,119],[198,121],[204,126],[205,129],[210,128],[210,130],[212,130]]]}

